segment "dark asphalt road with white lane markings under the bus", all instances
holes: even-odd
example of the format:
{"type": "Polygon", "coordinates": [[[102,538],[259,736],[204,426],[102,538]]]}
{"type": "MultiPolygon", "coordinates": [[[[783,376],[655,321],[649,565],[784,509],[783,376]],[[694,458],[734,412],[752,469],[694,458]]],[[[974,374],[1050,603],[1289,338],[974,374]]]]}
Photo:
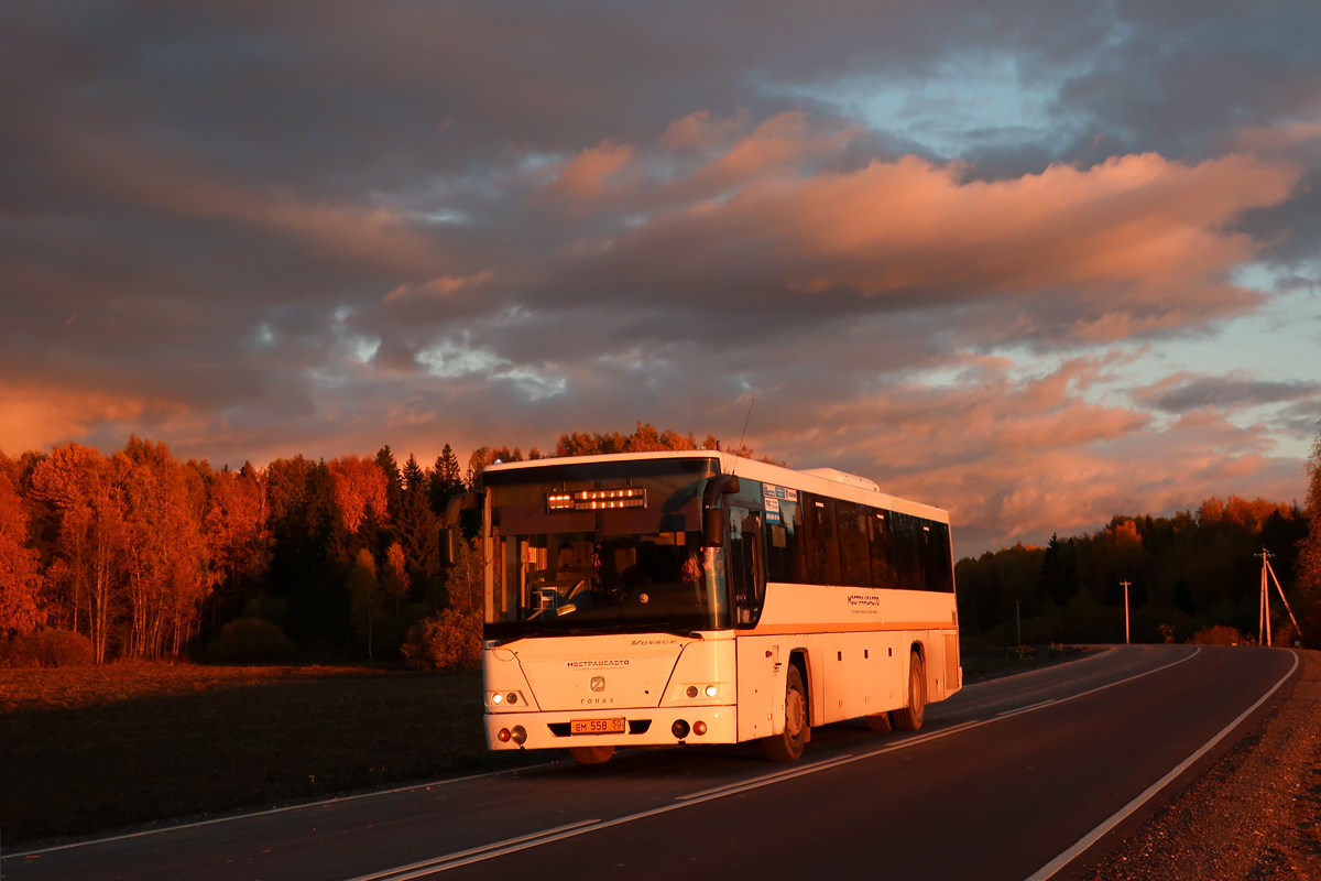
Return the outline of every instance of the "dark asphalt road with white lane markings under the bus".
{"type": "Polygon", "coordinates": [[[915,734],[814,729],[794,765],[754,745],[556,762],[5,856],[4,878],[1022,881],[1128,806],[1065,878],[1246,733],[1255,716],[1132,808],[1295,663],[1284,650],[1115,649],[971,686],[915,734]]]}

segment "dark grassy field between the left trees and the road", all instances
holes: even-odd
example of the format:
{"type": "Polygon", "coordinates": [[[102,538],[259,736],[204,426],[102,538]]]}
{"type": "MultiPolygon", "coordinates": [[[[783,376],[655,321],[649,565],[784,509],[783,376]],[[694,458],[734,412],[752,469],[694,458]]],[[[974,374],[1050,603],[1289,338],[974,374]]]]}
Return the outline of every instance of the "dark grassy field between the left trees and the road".
{"type": "Polygon", "coordinates": [[[5,845],[551,758],[489,753],[480,672],[0,670],[5,845]]]}

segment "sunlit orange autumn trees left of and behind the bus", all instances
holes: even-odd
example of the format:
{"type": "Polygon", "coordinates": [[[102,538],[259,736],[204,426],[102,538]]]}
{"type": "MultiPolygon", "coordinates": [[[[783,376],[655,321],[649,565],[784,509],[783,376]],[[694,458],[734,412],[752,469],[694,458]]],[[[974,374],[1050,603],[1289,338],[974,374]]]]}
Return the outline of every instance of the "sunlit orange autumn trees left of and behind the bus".
{"type": "MultiPolygon", "coordinates": [[[[564,435],[527,458],[697,448],[692,433],[639,421],[627,435],[564,435]]],[[[441,568],[440,518],[480,489],[486,465],[523,458],[481,446],[462,465],[446,444],[431,466],[412,454],[400,465],[384,445],[231,470],[137,437],[110,454],[0,453],[0,643],[79,634],[95,663],[252,654],[235,641],[258,654],[469,659],[480,569],[441,568]],[[456,633],[462,645],[446,647],[456,633]]]]}

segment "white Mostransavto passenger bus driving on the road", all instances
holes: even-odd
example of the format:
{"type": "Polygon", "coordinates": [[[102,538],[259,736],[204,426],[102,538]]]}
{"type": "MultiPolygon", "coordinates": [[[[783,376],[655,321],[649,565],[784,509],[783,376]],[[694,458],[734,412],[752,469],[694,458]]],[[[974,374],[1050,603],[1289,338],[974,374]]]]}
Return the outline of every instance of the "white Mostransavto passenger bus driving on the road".
{"type": "Polygon", "coordinates": [[[914,730],[962,684],[943,510],[715,450],[510,462],[482,483],[443,540],[481,509],[490,749],[593,763],[761,741],[789,761],[814,725],[914,730]]]}

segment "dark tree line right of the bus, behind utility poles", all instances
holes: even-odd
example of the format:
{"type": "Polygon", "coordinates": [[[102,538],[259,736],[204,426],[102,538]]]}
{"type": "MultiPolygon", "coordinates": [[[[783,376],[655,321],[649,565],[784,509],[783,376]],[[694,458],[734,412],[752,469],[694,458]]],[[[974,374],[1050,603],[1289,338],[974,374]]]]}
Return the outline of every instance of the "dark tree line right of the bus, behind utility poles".
{"type": "Polygon", "coordinates": [[[1271,553],[1299,634],[1272,593],[1276,643],[1321,637],[1321,592],[1303,551],[1321,536],[1296,505],[1209,498],[1173,516],[1115,516],[1092,534],[1015,544],[955,567],[966,641],[1013,646],[1123,642],[1124,581],[1133,642],[1186,642],[1213,626],[1258,637],[1262,552],[1271,553]]]}

